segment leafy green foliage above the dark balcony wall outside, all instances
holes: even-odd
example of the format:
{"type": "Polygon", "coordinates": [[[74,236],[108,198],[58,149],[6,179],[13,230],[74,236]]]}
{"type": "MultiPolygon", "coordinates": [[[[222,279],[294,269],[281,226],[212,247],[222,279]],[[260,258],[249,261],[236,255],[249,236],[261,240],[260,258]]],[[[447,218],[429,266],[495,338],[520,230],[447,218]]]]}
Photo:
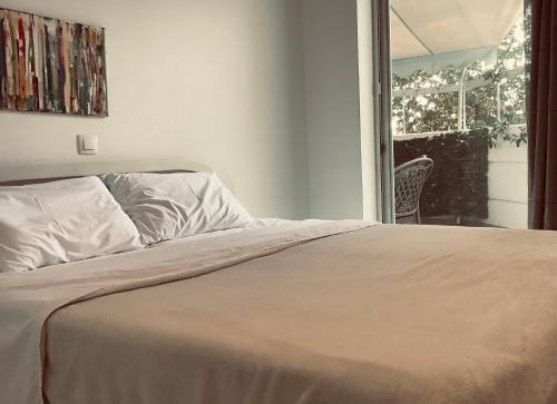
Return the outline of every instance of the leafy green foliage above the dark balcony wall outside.
{"type": "MultiPolygon", "coordinates": [[[[466,125],[468,128],[490,128],[494,145],[497,139],[516,142],[517,146],[526,142],[526,134],[512,135],[509,131],[510,125],[526,121],[526,78],[524,73],[515,78],[508,76],[509,70],[526,65],[526,37],[520,20],[499,45],[496,65],[476,62],[466,70],[467,80],[485,79],[489,82],[466,91],[466,125]],[[501,102],[500,121],[497,119],[497,86],[501,102]]],[[[453,66],[433,75],[422,70],[410,77],[394,75],[393,91],[458,86],[461,77],[462,69],[453,66]]],[[[458,129],[458,98],[457,91],[394,98],[393,131],[403,132],[404,120],[405,131],[411,134],[458,129]]]]}

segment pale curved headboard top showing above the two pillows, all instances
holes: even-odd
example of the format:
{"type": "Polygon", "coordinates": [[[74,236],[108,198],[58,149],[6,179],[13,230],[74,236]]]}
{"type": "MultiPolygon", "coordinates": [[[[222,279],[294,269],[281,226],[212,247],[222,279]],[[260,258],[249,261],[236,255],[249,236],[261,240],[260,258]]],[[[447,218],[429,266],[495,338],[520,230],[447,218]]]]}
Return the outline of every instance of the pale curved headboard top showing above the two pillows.
{"type": "MultiPolygon", "coordinates": [[[[59,179],[97,176],[110,173],[201,173],[214,170],[185,159],[95,161],[33,166],[0,166],[0,186],[50,183],[59,179]]],[[[221,179],[231,187],[226,178],[221,179]]]]}

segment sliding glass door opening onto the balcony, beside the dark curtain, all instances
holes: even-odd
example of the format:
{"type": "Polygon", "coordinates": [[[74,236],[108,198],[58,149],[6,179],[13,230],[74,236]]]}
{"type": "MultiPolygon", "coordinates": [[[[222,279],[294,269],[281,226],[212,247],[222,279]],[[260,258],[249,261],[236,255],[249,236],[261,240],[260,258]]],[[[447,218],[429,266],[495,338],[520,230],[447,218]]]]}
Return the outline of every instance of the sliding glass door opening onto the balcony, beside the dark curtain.
{"type": "Polygon", "coordinates": [[[389,21],[375,27],[385,221],[527,227],[522,11],[522,0],[377,2],[389,21]]]}

